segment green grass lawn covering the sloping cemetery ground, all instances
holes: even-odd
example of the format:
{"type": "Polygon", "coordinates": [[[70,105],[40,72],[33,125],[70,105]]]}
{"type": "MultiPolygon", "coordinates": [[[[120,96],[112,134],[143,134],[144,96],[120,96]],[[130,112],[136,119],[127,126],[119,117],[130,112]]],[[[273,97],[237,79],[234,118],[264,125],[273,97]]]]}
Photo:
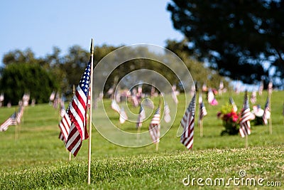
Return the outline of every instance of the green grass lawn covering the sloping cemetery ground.
{"type": "MultiPolygon", "coordinates": [[[[217,96],[217,106],[206,104],[208,115],[203,122],[204,136],[200,137],[196,116],[192,151],[187,151],[176,135],[185,110],[183,95],[179,97],[178,119],[160,140],[158,152],[155,152],[154,144],[139,148],[112,144],[93,127],[92,184],[89,186],[88,141],[83,142],[76,159],[72,158],[68,162],[69,153],[58,139],[58,110],[50,105],[26,107],[21,125],[0,132],[0,189],[199,189],[196,181],[194,186],[184,186],[182,179],[188,175],[203,179],[229,179],[239,177],[242,169],[246,170],[246,177],[263,178],[263,183],[281,181],[283,186],[284,118],[281,114],[284,92],[273,92],[271,97],[273,134],[269,134],[268,126],[252,126],[249,149],[244,149],[245,140],[239,135],[220,135],[223,130],[222,121],[217,120],[216,115],[222,105],[229,101],[229,95],[234,98],[236,105],[242,105],[244,94],[234,93],[217,96]]],[[[263,107],[265,101],[266,95],[262,95],[258,97],[257,103],[263,107]]],[[[118,114],[111,110],[110,101],[104,102],[111,120],[118,124],[118,114]]],[[[156,105],[158,99],[154,102],[156,105]]],[[[17,107],[0,108],[0,122],[4,122],[15,109],[17,107]]],[[[131,108],[133,112],[138,112],[138,109],[131,108]]],[[[97,122],[108,125],[109,122],[102,117],[102,107],[93,112],[98,115],[97,122]]],[[[93,122],[97,125],[96,121],[93,122]]],[[[148,122],[143,124],[142,131],[147,130],[148,122]]],[[[136,132],[135,124],[131,122],[118,126],[127,132],[136,132]]],[[[149,136],[148,138],[150,139],[149,136]]],[[[256,187],[263,189],[261,186],[256,187]]],[[[234,186],[232,183],[229,186],[230,189],[256,187],[234,186]]]]}

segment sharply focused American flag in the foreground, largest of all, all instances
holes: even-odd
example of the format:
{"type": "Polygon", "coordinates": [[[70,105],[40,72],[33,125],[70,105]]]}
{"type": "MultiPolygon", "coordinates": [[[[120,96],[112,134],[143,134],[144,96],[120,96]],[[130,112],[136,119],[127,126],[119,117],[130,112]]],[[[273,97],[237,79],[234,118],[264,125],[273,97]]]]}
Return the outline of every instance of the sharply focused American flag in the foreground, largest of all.
{"type": "Polygon", "coordinates": [[[67,115],[70,118],[71,125],[65,147],[75,157],[82,146],[82,140],[89,137],[87,132],[87,97],[89,93],[91,60],[92,56],[67,109],[67,115]]]}

